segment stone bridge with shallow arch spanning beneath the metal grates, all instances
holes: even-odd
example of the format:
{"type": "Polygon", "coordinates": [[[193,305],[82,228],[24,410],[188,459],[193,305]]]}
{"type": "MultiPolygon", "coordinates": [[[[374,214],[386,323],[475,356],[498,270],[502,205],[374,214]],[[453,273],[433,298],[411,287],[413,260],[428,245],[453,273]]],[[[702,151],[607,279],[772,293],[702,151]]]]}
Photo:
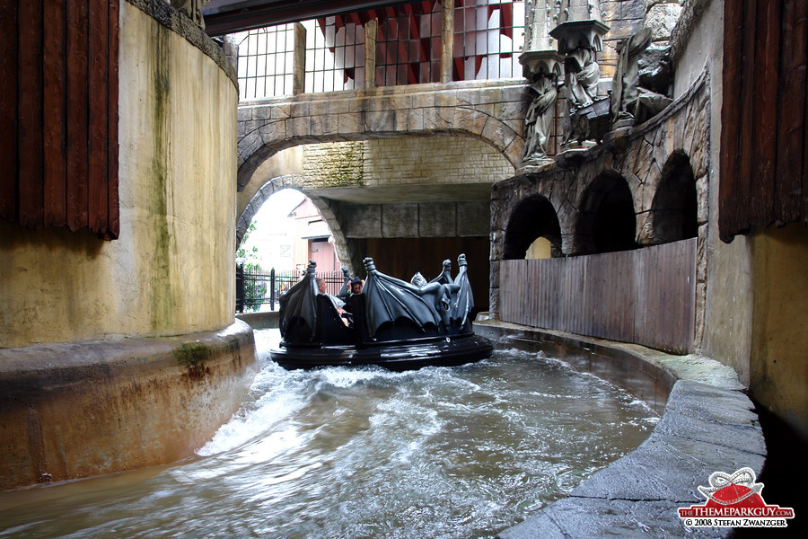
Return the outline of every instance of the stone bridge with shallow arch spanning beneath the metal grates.
{"type": "Polygon", "coordinates": [[[514,168],[522,157],[527,86],[521,80],[386,86],[304,93],[239,107],[238,190],[261,163],[304,144],[463,135],[494,146],[514,168]]]}

